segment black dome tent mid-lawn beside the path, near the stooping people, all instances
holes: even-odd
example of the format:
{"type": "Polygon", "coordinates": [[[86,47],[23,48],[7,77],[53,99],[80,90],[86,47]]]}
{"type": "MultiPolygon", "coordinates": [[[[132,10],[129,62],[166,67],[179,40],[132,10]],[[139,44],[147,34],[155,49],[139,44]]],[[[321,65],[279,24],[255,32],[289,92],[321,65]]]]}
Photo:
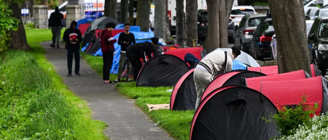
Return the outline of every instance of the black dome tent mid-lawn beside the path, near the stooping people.
{"type": "Polygon", "coordinates": [[[188,70],[188,65],[174,55],[157,55],[142,66],[137,86],[173,86],[188,70]]]}

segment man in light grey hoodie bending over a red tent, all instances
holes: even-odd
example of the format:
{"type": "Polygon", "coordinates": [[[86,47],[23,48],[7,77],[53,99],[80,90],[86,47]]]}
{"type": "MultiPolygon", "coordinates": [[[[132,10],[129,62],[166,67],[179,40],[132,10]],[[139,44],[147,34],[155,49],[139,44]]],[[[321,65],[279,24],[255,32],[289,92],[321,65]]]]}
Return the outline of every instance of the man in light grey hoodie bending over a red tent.
{"type": "Polygon", "coordinates": [[[213,76],[219,72],[229,72],[232,69],[232,61],[240,55],[237,47],[231,47],[227,51],[215,50],[207,54],[198,62],[194,71],[194,81],[197,93],[196,107],[199,105],[200,98],[204,89],[213,80],[213,76]]]}

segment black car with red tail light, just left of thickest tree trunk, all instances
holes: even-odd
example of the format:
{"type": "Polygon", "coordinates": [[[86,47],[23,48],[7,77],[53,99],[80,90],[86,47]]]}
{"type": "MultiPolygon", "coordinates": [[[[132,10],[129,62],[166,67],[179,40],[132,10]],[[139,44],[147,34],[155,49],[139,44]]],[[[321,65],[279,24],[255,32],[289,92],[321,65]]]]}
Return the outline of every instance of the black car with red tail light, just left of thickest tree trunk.
{"type": "Polygon", "coordinates": [[[249,35],[253,35],[249,41],[249,51],[250,55],[256,60],[270,59],[270,44],[272,36],[275,34],[273,28],[272,19],[266,18],[262,19],[261,22],[256,27],[255,31],[248,32],[249,35]]]}

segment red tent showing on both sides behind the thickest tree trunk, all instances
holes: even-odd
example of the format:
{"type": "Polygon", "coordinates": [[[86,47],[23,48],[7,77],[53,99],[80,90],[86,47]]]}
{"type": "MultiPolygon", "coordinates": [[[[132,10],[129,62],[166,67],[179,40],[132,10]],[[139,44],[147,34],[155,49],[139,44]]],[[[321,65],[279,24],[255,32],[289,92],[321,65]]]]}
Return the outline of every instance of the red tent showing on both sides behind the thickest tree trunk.
{"type": "MultiPolygon", "coordinates": [[[[320,71],[317,69],[317,67],[315,67],[313,64],[311,64],[310,66],[311,66],[311,75],[312,75],[312,77],[319,76],[320,71]]],[[[266,75],[277,75],[278,74],[278,66],[277,65],[275,65],[275,66],[264,66],[264,67],[249,67],[249,68],[247,68],[247,70],[261,72],[261,73],[264,73],[266,75]]]]}

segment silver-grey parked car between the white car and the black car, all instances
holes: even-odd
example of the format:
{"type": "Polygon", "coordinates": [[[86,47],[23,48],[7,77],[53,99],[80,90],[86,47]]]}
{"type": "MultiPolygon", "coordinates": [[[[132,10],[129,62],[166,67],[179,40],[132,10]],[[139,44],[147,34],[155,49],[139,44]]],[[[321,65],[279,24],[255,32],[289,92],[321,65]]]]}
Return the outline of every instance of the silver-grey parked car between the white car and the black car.
{"type": "Polygon", "coordinates": [[[239,26],[237,26],[235,31],[235,46],[239,47],[242,51],[249,52],[249,40],[253,37],[248,35],[250,31],[254,32],[257,25],[263,20],[267,15],[265,14],[252,14],[245,15],[239,26]]]}

